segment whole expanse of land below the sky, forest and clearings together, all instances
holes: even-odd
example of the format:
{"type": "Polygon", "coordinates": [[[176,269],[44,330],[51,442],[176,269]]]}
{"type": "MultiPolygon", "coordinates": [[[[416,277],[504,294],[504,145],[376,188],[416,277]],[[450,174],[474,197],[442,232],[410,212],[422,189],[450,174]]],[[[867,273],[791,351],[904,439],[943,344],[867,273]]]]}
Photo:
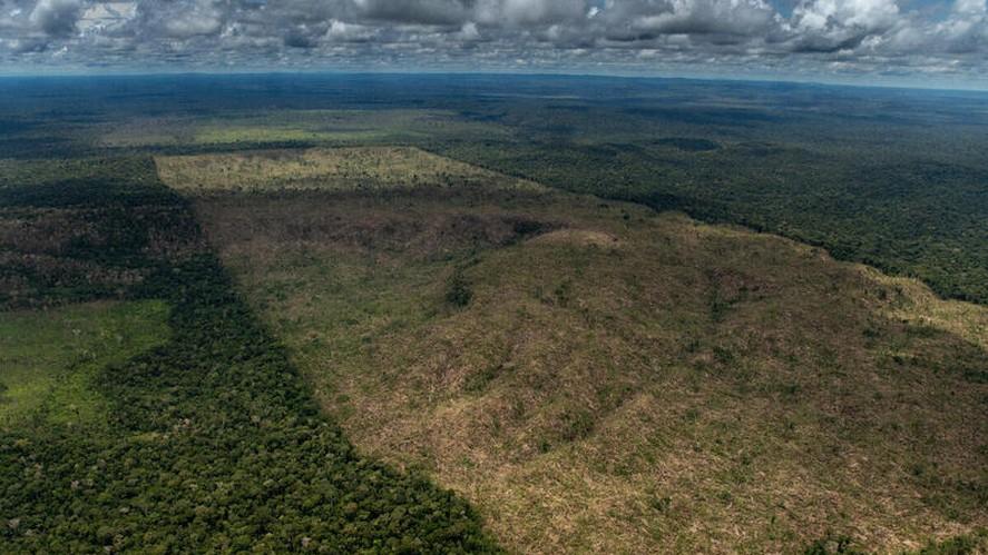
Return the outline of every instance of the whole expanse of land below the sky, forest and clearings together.
{"type": "Polygon", "coordinates": [[[0,552],[988,548],[984,93],[0,97],[0,552]]]}

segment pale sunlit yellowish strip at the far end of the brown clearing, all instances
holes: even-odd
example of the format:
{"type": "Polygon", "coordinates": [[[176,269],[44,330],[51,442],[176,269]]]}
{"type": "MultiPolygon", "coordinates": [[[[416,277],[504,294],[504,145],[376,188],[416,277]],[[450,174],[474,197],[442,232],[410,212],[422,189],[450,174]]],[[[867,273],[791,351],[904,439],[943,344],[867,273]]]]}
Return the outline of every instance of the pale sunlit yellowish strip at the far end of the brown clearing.
{"type": "Polygon", "coordinates": [[[537,189],[411,147],[255,150],[241,153],[160,156],[158,175],[190,192],[319,189],[381,190],[417,187],[537,189]]]}

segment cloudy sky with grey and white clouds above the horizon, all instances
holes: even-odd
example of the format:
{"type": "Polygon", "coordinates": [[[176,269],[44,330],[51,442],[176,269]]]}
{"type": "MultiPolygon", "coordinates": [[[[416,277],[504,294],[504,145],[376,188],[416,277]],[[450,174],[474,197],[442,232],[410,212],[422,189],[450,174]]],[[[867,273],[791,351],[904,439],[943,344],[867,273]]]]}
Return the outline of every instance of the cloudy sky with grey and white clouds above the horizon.
{"type": "Polygon", "coordinates": [[[988,88],[988,0],[0,0],[0,73],[498,71],[988,88]]]}

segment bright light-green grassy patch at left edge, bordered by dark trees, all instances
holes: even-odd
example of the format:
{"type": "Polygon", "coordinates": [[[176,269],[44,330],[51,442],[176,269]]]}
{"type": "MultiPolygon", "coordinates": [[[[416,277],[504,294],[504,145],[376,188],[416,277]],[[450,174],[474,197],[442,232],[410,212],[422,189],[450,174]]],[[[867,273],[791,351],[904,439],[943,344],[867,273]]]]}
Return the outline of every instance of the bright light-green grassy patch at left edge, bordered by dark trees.
{"type": "Polygon", "coordinates": [[[106,399],[94,374],[165,343],[167,316],[150,300],[0,313],[0,428],[100,424],[106,399]]]}

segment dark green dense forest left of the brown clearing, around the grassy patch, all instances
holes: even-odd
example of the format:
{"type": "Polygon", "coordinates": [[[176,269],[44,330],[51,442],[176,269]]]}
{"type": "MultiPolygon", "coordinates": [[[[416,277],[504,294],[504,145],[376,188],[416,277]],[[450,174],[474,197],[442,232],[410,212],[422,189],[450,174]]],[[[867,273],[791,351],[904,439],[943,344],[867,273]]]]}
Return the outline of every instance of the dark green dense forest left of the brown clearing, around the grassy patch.
{"type": "Polygon", "coordinates": [[[4,260],[26,260],[2,266],[8,308],[162,299],[170,336],[95,373],[105,422],[41,407],[0,426],[4,553],[497,549],[464,502],[320,414],[147,159],[42,167],[0,188],[4,260]],[[38,226],[65,232],[32,245],[38,226]]]}

